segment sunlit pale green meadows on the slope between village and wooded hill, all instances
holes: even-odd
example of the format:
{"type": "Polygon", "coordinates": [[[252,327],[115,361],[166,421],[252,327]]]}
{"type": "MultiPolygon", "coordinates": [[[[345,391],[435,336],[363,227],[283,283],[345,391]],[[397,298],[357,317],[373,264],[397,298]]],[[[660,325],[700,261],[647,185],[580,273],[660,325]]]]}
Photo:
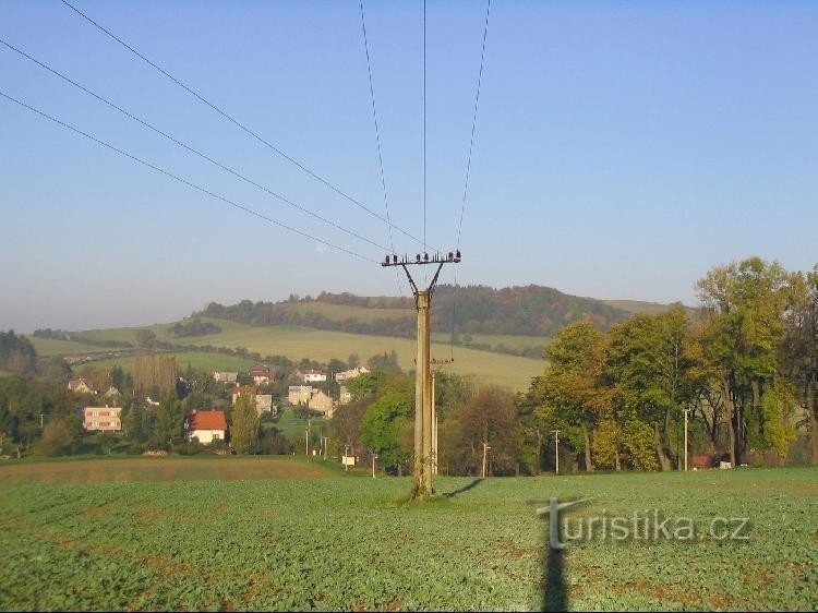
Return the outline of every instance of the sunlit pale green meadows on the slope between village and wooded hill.
{"type": "MultiPolygon", "coordinates": [[[[341,332],[318,330],[289,326],[251,326],[224,320],[208,320],[222,329],[218,334],[199,337],[175,339],[167,333],[172,324],[146,326],[156,333],[160,340],[169,340],[192,346],[212,345],[214,347],[244,347],[249,351],[257,351],[262,356],[287,356],[293,361],[302,358],[327,362],[332,358],[346,360],[351,353],[358,353],[365,361],[370,356],[395,350],[404,370],[414,368],[416,344],[412,339],[385,336],[369,336],[347,334],[341,332]]],[[[83,334],[96,340],[125,340],[134,342],[136,330],[141,328],[110,328],[104,330],[86,330],[83,334]]],[[[478,335],[488,339],[489,335],[478,335]]],[[[452,349],[443,335],[443,342],[432,344],[432,354],[438,359],[449,359],[452,349]]],[[[476,337],[477,338],[477,337],[476,337]]],[[[526,337],[497,337],[506,341],[526,337]]],[[[481,340],[483,341],[483,340],[481,340]]],[[[489,340],[485,340],[486,342],[489,340]]],[[[503,340],[500,340],[503,341],[503,340]]],[[[527,389],[531,378],[542,373],[544,363],[541,360],[504,356],[489,351],[478,351],[455,347],[455,362],[442,366],[459,374],[474,374],[480,381],[495,383],[514,390],[527,389]]],[[[229,370],[251,365],[246,362],[237,365],[230,358],[216,353],[180,353],[177,362],[184,368],[190,361],[194,366],[210,370],[229,370]]],[[[120,358],[95,362],[98,365],[120,364],[123,369],[133,365],[133,358],[120,358]]]]}

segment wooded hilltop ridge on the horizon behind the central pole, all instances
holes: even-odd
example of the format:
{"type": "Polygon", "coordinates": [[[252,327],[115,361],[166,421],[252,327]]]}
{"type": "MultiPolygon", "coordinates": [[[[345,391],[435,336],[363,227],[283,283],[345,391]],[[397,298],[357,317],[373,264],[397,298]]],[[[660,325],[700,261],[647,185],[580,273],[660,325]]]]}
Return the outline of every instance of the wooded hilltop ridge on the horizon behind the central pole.
{"type": "MultiPolygon", "coordinates": [[[[210,302],[200,315],[256,325],[298,325],[356,334],[411,337],[416,330],[411,298],[361,297],[321,292],[290,296],[280,302],[242,300],[225,306],[210,302]]],[[[629,313],[591,298],[568,296],[543,286],[455,287],[441,285],[434,293],[432,325],[458,334],[553,336],[565,325],[587,318],[601,329],[629,313]]]]}

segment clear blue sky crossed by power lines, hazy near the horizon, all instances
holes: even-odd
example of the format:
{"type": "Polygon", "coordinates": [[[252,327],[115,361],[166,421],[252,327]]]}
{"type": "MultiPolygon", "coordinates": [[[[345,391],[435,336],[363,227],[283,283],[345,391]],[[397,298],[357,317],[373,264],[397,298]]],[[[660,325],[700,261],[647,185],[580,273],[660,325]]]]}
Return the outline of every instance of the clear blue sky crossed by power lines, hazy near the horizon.
{"type": "Polygon", "coordinates": [[[425,206],[423,2],[363,4],[386,202],[359,0],[71,2],[359,204],[61,1],[4,0],[7,44],[335,226],[0,45],[0,92],[233,203],[0,96],[0,329],[408,295],[377,262],[424,237],[462,252],[442,283],[690,305],[714,266],[818,262],[816,2],[493,0],[464,199],[486,4],[430,0],[425,206]]]}

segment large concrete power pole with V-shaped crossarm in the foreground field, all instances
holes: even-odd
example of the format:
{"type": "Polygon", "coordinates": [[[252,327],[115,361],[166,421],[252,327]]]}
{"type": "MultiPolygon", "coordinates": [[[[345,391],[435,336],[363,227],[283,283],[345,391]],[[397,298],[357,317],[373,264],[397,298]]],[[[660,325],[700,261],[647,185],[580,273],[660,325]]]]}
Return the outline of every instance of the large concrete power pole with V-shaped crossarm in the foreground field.
{"type": "Polygon", "coordinates": [[[417,372],[414,376],[414,461],[412,474],[414,485],[412,490],[413,498],[428,498],[432,495],[432,466],[433,466],[433,447],[432,447],[432,360],[430,356],[430,317],[429,311],[432,304],[432,295],[437,277],[444,264],[457,264],[460,262],[460,251],[448,252],[448,255],[436,253],[431,259],[428,253],[419,253],[412,262],[404,256],[398,260],[397,255],[387,255],[386,260],[381,263],[382,266],[400,266],[404,268],[409,285],[412,287],[414,295],[414,308],[418,311],[418,358],[416,360],[417,372]],[[411,265],[437,265],[437,271],[426,289],[419,289],[414,279],[409,274],[407,266],[411,265]]]}

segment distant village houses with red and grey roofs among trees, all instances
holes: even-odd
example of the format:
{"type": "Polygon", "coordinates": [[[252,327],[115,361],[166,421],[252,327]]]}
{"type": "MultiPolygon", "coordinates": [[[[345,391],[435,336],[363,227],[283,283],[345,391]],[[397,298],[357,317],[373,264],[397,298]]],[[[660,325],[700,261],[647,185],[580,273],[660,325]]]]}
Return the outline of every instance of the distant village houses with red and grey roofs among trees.
{"type": "MultiPolygon", "coordinates": [[[[356,366],[342,372],[333,373],[334,381],[339,384],[337,398],[333,398],[323,390],[321,384],[327,383],[327,373],[323,370],[306,369],[296,370],[293,377],[301,381],[299,385],[290,385],[287,389],[287,405],[291,407],[305,407],[327,419],[332,418],[336,408],[351,401],[351,394],[346,383],[361,374],[371,372],[366,366],[356,366]]],[[[210,374],[213,381],[222,384],[231,396],[231,404],[241,395],[252,396],[255,401],[255,410],[258,417],[268,414],[277,417],[281,408],[274,404],[273,394],[263,394],[265,386],[275,382],[275,372],[266,365],[254,365],[246,372],[252,385],[239,383],[239,372],[216,371],[210,374]]],[[[180,377],[180,382],[184,380],[180,377]]],[[[324,385],[323,387],[326,387],[324,385]]],[[[117,406],[121,394],[119,389],[110,386],[105,392],[94,389],[93,385],[84,377],[72,378],[68,383],[71,392],[98,396],[101,401],[98,406],[87,406],[82,409],[83,429],[87,432],[121,432],[122,431],[122,407],[117,406]]],[[[159,405],[149,396],[145,398],[147,405],[159,405]]],[[[225,441],[228,436],[228,420],[225,411],[213,407],[201,407],[192,409],[184,416],[183,435],[187,441],[197,442],[202,445],[210,445],[216,441],[225,441]]]]}

